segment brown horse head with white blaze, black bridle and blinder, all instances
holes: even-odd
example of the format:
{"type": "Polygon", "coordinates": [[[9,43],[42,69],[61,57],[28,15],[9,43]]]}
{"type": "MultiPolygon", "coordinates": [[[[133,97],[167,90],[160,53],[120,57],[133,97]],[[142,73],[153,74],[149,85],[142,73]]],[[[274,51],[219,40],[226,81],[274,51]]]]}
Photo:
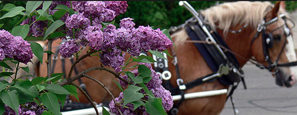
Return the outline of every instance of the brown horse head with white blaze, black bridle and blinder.
{"type": "Polygon", "coordinates": [[[253,56],[272,73],[279,86],[291,87],[296,83],[297,67],[289,65],[296,61],[291,30],[293,26],[285,14],[284,2],[277,2],[273,8],[268,7],[263,23],[257,26],[258,35],[252,40],[253,56]]]}

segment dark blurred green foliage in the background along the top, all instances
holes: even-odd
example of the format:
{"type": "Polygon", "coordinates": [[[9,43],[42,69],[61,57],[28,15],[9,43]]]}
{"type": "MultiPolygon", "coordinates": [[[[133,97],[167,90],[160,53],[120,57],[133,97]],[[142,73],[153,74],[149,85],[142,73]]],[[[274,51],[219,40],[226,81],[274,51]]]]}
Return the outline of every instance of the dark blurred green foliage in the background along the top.
{"type": "MultiPolygon", "coordinates": [[[[0,9],[3,9],[7,3],[15,4],[16,6],[26,6],[26,1],[3,1],[0,4],[0,9]]],[[[121,14],[116,18],[116,24],[122,18],[130,17],[134,19],[138,25],[150,25],[159,27],[160,29],[170,28],[171,26],[178,26],[183,24],[187,19],[192,17],[192,14],[178,5],[179,1],[128,1],[128,9],[126,13],[121,14]]],[[[196,10],[204,10],[217,3],[224,3],[222,1],[189,1],[190,5],[196,10]]],[[[272,1],[275,3],[275,1],[272,1]]],[[[297,1],[286,1],[286,10],[291,12],[297,8],[297,1]]],[[[0,16],[3,16],[6,11],[0,11],[0,16]]],[[[22,16],[18,15],[14,18],[6,18],[0,21],[0,24],[5,24],[0,29],[11,30],[12,27],[21,19],[22,16]]],[[[118,26],[118,25],[117,25],[118,26]]]]}

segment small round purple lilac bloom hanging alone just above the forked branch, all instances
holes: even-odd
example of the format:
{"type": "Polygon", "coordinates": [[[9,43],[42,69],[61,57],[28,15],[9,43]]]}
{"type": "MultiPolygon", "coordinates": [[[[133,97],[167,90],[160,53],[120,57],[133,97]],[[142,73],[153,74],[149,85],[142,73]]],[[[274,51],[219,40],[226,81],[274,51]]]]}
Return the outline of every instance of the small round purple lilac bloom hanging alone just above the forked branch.
{"type": "Polygon", "coordinates": [[[80,46],[77,45],[75,39],[65,41],[60,45],[59,53],[64,57],[70,57],[73,53],[80,50],[80,46]]]}

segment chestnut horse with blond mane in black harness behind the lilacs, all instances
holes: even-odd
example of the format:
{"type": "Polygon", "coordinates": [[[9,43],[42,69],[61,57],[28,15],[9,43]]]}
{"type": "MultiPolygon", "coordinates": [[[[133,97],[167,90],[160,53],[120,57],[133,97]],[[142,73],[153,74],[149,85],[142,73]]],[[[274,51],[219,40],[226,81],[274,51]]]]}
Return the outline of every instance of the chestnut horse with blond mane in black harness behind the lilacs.
{"type": "MultiPolygon", "coordinates": [[[[247,59],[251,59],[251,57],[254,57],[258,63],[263,64],[266,67],[271,66],[265,61],[262,49],[263,42],[265,41],[262,40],[264,39],[262,38],[262,33],[260,32],[258,34],[257,25],[261,24],[263,20],[269,22],[270,20],[275,19],[275,17],[278,17],[278,20],[273,20],[272,23],[262,26],[263,28],[265,27],[266,33],[269,33],[270,36],[272,35],[271,38],[273,37],[273,45],[268,48],[270,60],[271,62],[277,62],[277,64],[296,61],[292,36],[286,34],[290,31],[292,25],[285,23],[285,19],[280,17],[280,14],[286,14],[284,2],[278,2],[275,6],[269,2],[225,3],[206,9],[201,13],[204,16],[204,21],[209,24],[212,30],[215,30],[226,42],[229,48],[237,54],[236,58],[240,67],[243,67],[248,61],[247,59]],[[244,27],[244,25],[247,26],[244,27]],[[289,31],[285,29],[286,27],[289,28],[289,31]],[[238,33],[231,33],[229,31],[239,29],[241,29],[241,32],[238,33]],[[258,34],[258,36],[254,38],[256,34],[258,34]]],[[[287,16],[285,15],[285,17],[287,16]]],[[[173,31],[171,36],[176,45],[176,48],[173,49],[178,60],[179,75],[184,83],[191,82],[199,77],[212,73],[194,44],[186,42],[189,40],[189,36],[184,28],[173,31]]],[[[58,42],[60,41],[54,41],[53,46],[57,46],[58,42]]],[[[55,47],[53,51],[54,50],[55,47]]],[[[172,53],[171,49],[168,51],[169,53],[172,53]]],[[[86,52],[82,52],[82,54],[84,53],[86,52]]],[[[80,72],[90,67],[100,65],[99,60],[98,56],[88,57],[77,65],[78,71],[80,72]]],[[[169,58],[169,61],[172,61],[172,59],[169,58]]],[[[66,72],[68,72],[70,62],[65,60],[65,63],[65,69],[66,72]]],[[[57,60],[54,73],[62,73],[60,65],[61,60],[57,60]]],[[[44,63],[44,65],[40,66],[39,76],[46,76],[45,70],[46,65],[44,63]]],[[[276,75],[276,78],[277,76],[282,77],[280,79],[282,82],[279,82],[278,85],[283,86],[286,84],[287,87],[290,87],[296,82],[297,68],[279,67],[277,70],[279,71],[276,72],[276,68],[270,69],[273,76],[275,76],[274,74],[276,73],[280,73],[276,75]]],[[[177,75],[173,64],[169,64],[169,71],[172,73],[170,82],[174,87],[177,87],[177,75]]],[[[87,74],[101,81],[115,96],[118,96],[120,90],[112,81],[116,80],[112,74],[104,71],[92,71],[87,74]]],[[[86,88],[92,99],[97,103],[109,102],[111,100],[109,94],[92,80],[82,78],[82,81],[86,84],[86,88]]],[[[77,81],[76,83],[78,84],[77,81]]],[[[218,80],[214,80],[185,90],[185,93],[228,88],[229,86],[222,85],[218,80]]],[[[219,114],[224,108],[226,97],[227,94],[187,99],[179,106],[178,114],[219,114]]],[[[80,95],[79,98],[80,102],[88,103],[84,95],[80,95]]],[[[76,100],[74,97],[71,97],[71,99],[76,100]]]]}

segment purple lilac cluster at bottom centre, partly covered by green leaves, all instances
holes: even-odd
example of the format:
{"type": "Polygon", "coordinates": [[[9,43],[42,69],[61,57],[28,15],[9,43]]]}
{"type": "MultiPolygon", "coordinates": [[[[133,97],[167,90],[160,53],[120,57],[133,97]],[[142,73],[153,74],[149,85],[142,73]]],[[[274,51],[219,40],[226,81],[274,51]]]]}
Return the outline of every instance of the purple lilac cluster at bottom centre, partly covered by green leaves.
{"type": "MultiPolygon", "coordinates": [[[[162,105],[163,107],[165,108],[166,111],[169,111],[172,106],[173,106],[173,99],[172,99],[172,96],[171,96],[171,93],[170,91],[166,90],[161,84],[162,84],[162,81],[160,79],[160,76],[159,74],[157,74],[151,64],[147,64],[147,63],[139,63],[140,65],[145,65],[146,67],[150,68],[151,71],[152,71],[152,80],[148,83],[145,83],[145,85],[147,86],[148,90],[151,90],[153,92],[153,94],[157,97],[157,98],[162,98],[162,105]]],[[[138,71],[137,70],[133,70],[131,71],[134,76],[136,77],[138,75],[138,71]]],[[[128,76],[127,75],[122,75],[120,76],[121,78],[125,79],[125,80],[128,80],[128,76]]],[[[120,81],[120,84],[123,86],[123,87],[126,87],[128,84],[119,80],[120,81]]],[[[145,94],[145,92],[143,90],[140,90],[141,93],[145,94]]],[[[145,98],[145,97],[144,97],[145,98]]],[[[120,104],[121,106],[120,107],[120,110],[124,113],[124,114],[148,114],[145,110],[145,107],[143,106],[140,106],[139,108],[137,108],[136,110],[133,111],[133,105],[131,103],[128,103],[126,107],[123,107],[123,93],[120,93],[119,97],[115,98],[115,101],[111,101],[109,103],[109,107],[110,107],[110,110],[112,112],[114,112],[115,114],[119,114],[119,111],[116,109],[116,104],[120,104]]],[[[147,99],[147,97],[146,97],[147,99]]]]}

